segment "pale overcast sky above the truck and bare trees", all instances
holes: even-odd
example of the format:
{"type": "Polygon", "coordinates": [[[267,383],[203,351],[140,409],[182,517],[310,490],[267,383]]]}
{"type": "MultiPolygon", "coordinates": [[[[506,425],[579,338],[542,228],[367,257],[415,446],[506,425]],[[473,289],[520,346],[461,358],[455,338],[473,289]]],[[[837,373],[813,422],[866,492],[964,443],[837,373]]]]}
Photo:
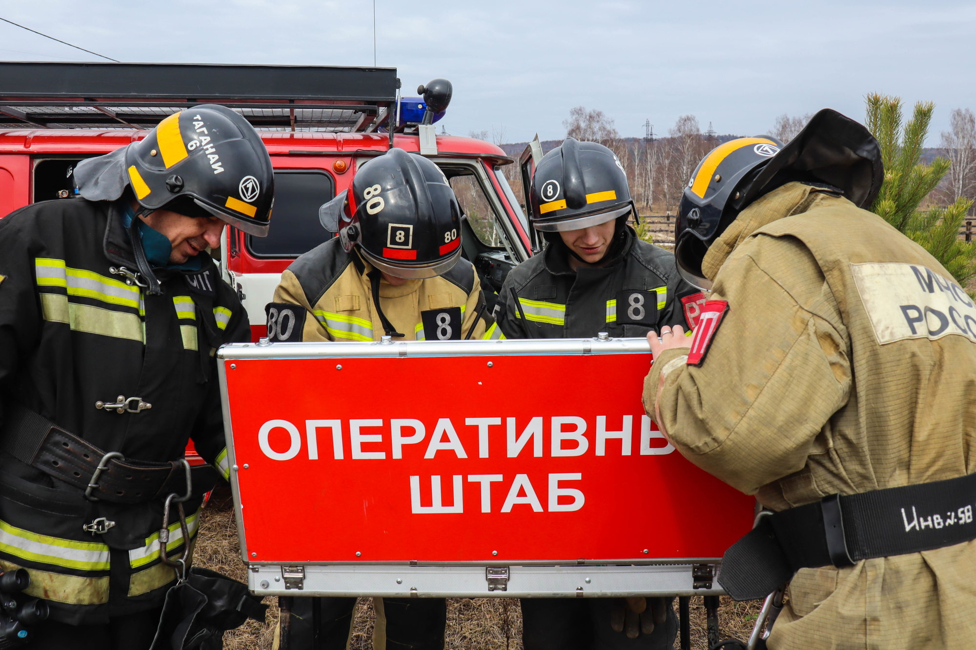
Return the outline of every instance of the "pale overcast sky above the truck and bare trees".
{"type": "MultiPolygon", "coordinates": [[[[120,61],[374,61],[372,0],[2,0],[0,17],[120,61]]],[[[937,145],[953,108],[976,108],[974,28],[972,0],[376,0],[376,63],[407,94],[450,79],[440,124],[454,135],[562,138],[576,105],[624,136],[645,119],[667,134],[687,113],[703,131],[754,135],[823,107],[863,120],[879,91],[936,102],[937,145]]],[[[0,59],[99,61],[5,22],[0,59]]]]}

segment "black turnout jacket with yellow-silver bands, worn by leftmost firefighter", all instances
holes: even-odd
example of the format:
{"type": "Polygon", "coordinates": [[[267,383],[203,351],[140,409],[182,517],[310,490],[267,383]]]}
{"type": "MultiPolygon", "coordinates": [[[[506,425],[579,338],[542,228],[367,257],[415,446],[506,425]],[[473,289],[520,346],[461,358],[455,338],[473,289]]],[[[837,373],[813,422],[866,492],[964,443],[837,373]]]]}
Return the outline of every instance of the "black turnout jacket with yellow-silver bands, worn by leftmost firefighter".
{"type": "MultiPolygon", "coordinates": [[[[180,459],[192,438],[226,477],[214,351],[249,339],[246,314],[205,253],[198,271],[155,269],[161,295],[127,284],[119,268],[136,264],[123,210],[65,199],[0,220],[0,436],[12,435],[4,423],[19,403],[126,459],[180,459]],[[151,408],[96,408],[119,395],[151,408]]],[[[200,501],[184,504],[191,535],[200,501]]],[[[161,515],[158,501],[88,501],[0,452],[0,570],[25,567],[28,593],[49,601],[52,619],[103,623],[159,606],[175,579],[159,557],[161,515]],[[116,525],[82,529],[98,517],[116,525]]],[[[167,548],[179,554],[179,523],[170,530],[167,548]]]]}

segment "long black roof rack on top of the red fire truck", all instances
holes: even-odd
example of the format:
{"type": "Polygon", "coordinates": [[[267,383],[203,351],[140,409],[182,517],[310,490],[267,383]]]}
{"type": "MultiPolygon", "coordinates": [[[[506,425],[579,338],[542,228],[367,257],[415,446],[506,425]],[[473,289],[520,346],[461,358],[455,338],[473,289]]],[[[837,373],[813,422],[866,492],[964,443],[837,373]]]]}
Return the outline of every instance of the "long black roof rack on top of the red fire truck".
{"type": "Polygon", "coordinates": [[[397,88],[395,67],[0,61],[0,129],[151,129],[220,103],[259,131],[368,133],[397,88]]]}

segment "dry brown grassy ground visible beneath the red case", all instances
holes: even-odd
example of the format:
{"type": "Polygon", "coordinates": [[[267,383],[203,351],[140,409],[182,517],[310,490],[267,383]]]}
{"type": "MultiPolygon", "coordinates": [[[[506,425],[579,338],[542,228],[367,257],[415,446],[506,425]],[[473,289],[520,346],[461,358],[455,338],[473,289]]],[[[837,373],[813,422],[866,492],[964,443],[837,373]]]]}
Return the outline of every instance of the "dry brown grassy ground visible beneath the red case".
{"type": "MultiPolygon", "coordinates": [[[[242,582],[247,581],[237,544],[229,491],[215,493],[203,510],[200,534],[193,561],[242,582]]],[[[274,598],[265,598],[270,607],[262,623],[248,621],[224,635],[225,650],[270,650],[278,608],[274,598]]],[[[676,606],[676,601],[675,601],[676,606]]],[[[733,602],[722,596],[718,610],[722,637],[745,640],[761,606],[760,601],[733,602]]],[[[356,605],[352,650],[371,650],[376,616],[370,598],[356,605]]],[[[447,650],[521,650],[522,615],[514,598],[451,598],[447,601],[447,650]]],[[[707,648],[705,609],[701,597],[691,599],[691,647],[707,648]]],[[[675,640],[675,644],[677,640],[675,640]]]]}

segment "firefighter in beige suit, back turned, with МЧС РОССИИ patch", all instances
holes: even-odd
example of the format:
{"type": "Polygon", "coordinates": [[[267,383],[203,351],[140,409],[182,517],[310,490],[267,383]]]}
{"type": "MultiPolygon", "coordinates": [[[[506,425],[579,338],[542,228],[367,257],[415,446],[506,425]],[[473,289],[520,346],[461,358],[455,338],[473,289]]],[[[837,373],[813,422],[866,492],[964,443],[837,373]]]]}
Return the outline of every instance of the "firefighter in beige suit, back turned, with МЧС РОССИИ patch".
{"type": "Polygon", "coordinates": [[[859,209],[882,178],[867,130],[824,110],[782,150],[714,149],[680,209],[679,267],[711,295],[690,348],[652,340],[644,406],[774,512],[719,578],[736,599],[792,579],[770,648],[976,635],[976,306],[859,209]]]}

